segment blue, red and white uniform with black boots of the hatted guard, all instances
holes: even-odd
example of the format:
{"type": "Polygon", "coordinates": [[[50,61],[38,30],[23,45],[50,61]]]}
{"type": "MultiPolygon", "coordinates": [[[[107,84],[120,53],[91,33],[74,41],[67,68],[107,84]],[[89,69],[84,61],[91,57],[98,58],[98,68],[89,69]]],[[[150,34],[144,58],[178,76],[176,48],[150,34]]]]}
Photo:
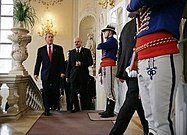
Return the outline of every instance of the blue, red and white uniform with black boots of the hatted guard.
{"type": "Polygon", "coordinates": [[[108,117],[114,115],[116,101],[114,78],[116,74],[118,42],[113,36],[111,36],[106,42],[98,44],[97,49],[101,49],[103,52],[100,66],[102,69],[103,87],[107,96],[106,113],[103,113],[101,117],[108,117]]]}

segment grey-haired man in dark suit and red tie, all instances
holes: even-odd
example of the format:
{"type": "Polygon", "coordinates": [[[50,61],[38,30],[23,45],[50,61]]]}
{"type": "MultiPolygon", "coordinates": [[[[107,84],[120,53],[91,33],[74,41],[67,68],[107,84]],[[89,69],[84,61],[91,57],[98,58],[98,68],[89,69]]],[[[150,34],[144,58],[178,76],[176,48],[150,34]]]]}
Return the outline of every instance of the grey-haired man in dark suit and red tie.
{"type": "Polygon", "coordinates": [[[56,109],[59,105],[60,78],[65,76],[64,53],[62,46],[53,44],[54,35],[45,35],[46,45],[40,47],[34,69],[34,78],[37,81],[41,69],[42,97],[45,108],[44,115],[50,115],[50,107],[56,109]]]}

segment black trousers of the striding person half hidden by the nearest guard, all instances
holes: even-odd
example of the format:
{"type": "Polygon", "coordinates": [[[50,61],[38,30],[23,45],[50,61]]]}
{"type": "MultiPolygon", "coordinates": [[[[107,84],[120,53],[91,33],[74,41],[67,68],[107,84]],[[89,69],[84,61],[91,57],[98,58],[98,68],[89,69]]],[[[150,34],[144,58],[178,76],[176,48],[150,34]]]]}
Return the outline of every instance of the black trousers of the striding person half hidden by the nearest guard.
{"type": "Polygon", "coordinates": [[[142,102],[139,98],[137,78],[129,78],[126,82],[128,86],[126,99],[118,113],[116,123],[110,131],[110,135],[123,135],[135,111],[138,113],[144,134],[146,135],[148,134],[148,122],[145,119],[142,102]]]}

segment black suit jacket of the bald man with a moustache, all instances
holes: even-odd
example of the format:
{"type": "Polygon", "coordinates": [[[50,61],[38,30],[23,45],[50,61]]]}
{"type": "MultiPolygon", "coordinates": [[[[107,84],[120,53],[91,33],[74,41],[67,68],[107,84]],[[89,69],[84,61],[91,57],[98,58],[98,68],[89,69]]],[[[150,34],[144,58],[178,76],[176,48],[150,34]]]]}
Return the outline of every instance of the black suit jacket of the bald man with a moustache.
{"type": "Polygon", "coordinates": [[[76,79],[79,79],[81,83],[86,83],[89,78],[88,67],[92,64],[93,59],[89,49],[82,47],[79,54],[77,54],[76,49],[73,49],[69,52],[66,77],[70,79],[71,83],[75,82],[76,79]],[[81,66],[76,67],[76,61],[80,61],[81,66]]]}

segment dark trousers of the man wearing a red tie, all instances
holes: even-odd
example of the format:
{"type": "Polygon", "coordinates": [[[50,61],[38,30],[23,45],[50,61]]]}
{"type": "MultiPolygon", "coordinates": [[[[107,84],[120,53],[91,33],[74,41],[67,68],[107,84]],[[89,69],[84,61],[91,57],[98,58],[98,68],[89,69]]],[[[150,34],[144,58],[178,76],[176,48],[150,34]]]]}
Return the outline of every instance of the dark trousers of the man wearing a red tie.
{"type": "Polygon", "coordinates": [[[49,112],[50,108],[58,108],[60,89],[59,89],[59,80],[42,80],[42,98],[43,104],[46,112],[49,112]]]}

